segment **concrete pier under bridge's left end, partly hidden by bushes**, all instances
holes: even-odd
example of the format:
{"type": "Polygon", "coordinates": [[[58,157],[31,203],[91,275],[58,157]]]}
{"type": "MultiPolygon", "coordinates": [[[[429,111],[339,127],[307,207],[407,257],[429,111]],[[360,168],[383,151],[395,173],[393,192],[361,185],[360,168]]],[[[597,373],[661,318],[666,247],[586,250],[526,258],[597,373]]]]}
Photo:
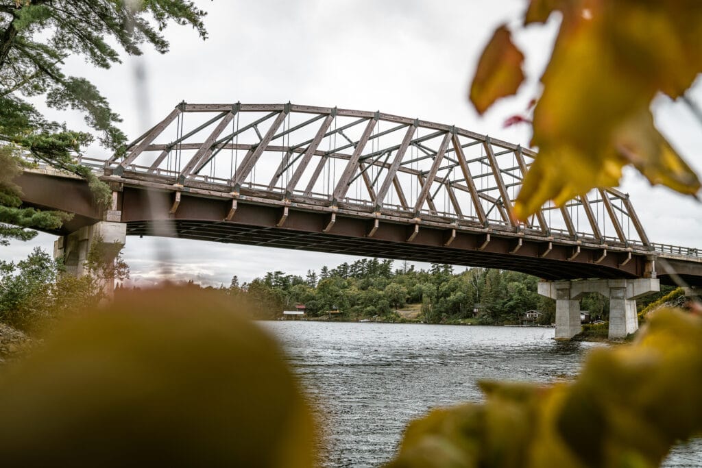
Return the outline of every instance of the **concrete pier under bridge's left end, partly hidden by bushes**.
{"type": "MultiPolygon", "coordinates": [[[[67,236],[60,236],[53,243],[53,258],[62,258],[66,272],[77,277],[88,274],[86,265],[88,253],[93,243],[101,239],[102,242],[119,243],[124,246],[126,241],[127,225],[121,222],[100,221],[94,225],[81,227],[76,232],[67,236]]],[[[107,261],[114,261],[114,258],[107,261]]],[[[114,281],[106,281],[103,290],[107,297],[114,294],[114,281]]]]}

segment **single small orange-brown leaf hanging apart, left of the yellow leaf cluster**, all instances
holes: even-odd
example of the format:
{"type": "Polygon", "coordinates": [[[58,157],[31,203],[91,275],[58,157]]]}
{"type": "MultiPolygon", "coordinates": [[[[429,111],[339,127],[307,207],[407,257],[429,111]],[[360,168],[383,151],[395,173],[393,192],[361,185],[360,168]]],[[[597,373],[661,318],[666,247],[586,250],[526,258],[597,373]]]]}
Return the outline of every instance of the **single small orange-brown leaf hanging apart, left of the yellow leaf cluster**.
{"type": "Polygon", "coordinates": [[[509,30],[502,25],[483,51],[470,85],[470,100],[479,114],[499,98],[517,92],[524,81],[522,62],[524,54],[512,43],[509,30]]]}

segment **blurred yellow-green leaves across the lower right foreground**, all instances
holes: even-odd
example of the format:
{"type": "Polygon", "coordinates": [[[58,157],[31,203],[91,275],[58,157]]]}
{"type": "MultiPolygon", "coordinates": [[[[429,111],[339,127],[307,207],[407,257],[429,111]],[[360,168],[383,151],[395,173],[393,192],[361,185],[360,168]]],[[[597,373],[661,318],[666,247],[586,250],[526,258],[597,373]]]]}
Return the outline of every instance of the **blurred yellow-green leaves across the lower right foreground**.
{"type": "Polygon", "coordinates": [[[702,317],[661,309],[634,345],[591,352],[572,383],[481,387],[485,403],[411,422],[387,466],[657,467],[702,430],[702,317]]]}

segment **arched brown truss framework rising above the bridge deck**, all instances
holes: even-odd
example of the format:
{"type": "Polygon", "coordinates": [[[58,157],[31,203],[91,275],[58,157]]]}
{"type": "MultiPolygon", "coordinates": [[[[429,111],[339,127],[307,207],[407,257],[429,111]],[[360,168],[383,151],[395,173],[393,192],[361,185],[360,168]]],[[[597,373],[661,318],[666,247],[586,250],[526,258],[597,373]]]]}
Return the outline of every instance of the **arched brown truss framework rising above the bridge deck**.
{"type": "Polygon", "coordinates": [[[458,228],[650,245],[628,196],[615,189],[547,204],[518,225],[512,206],[534,156],[463,128],[382,112],[183,102],[107,168],[458,228]]]}

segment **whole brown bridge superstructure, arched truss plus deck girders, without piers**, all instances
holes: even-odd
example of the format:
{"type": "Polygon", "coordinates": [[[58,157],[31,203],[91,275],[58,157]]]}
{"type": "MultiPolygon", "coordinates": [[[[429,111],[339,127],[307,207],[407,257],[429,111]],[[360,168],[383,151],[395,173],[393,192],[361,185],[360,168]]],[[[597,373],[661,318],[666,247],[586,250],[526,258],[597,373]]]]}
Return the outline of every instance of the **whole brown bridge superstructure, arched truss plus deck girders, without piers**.
{"type": "Polygon", "coordinates": [[[382,112],[183,102],[126,151],[84,161],[110,183],[109,210],[95,207],[84,181],[65,174],[27,169],[19,183],[27,206],[74,213],[55,234],[107,220],[126,223],[131,235],[494,267],[544,279],[677,272],[702,283],[699,252],[649,242],[616,189],[546,204],[515,222],[512,206],[535,156],[463,128],[382,112]]]}

